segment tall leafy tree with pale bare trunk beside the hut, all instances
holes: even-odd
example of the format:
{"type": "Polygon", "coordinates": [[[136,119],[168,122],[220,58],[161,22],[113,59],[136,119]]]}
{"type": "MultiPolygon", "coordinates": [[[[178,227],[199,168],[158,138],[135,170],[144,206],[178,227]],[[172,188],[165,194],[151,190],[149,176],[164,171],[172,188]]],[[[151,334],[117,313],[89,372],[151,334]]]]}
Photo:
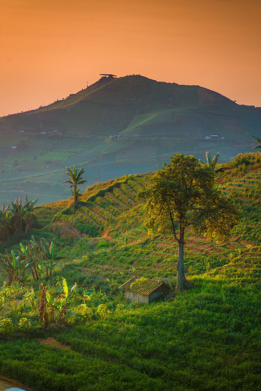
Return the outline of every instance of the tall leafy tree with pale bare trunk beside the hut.
{"type": "Polygon", "coordinates": [[[190,286],[185,278],[184,234],[191,226],[197,233],[226,239],[239,220],[234,201],[215,187],[215,172],[194,156],[176,154],[163,163],[151,179],[150,189],[140,193],[147,199],[151,229],[172,230],[178,243],[177,289],[190,286]],[[176,227],[178,223],[179,227],[176,227]]]}

